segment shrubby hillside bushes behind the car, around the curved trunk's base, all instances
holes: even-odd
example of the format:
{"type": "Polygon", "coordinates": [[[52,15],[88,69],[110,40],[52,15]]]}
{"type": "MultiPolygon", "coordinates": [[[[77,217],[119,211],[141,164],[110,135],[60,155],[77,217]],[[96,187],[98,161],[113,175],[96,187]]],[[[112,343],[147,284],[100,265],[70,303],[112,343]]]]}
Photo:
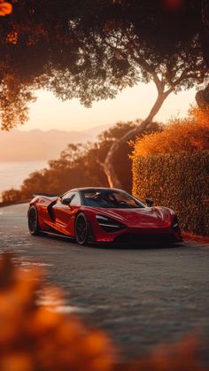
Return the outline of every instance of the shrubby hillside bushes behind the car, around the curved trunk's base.
{"type": "MultiPolygon", "coordinates": [[[[61,195],[68,189],[84,186],[108,187],[108,181],[104,174],[103,162],[112,142],[126,134],[136,123],[118,122],[112,128],[105,130],[98,137],[96,143],[69,143],[67,148],[60,153],[58,159],[50,160],[49,167],[35,173],[29,174],[22,183],[20,189],[8,189],[3,192],[4,202],[27,200],[33,193],[46,192],[61,195]]],[[[130,148],[128,146],[128,150],[130,148]]],[[[128,150],[123,148],[120,159],[128,158],[128,150]]],[[[118,161],[118,159],[117,159],[118,161]]],[[[117,162],[118,163],[118,162],[117,162]]],[[[121,167],[121,166],[120,166],[121,167]]],[[[130,173],[131,173],[131,164],[130,173]]],[[[120,180],[128,183],[131,189],[131,174],[127,176],[127,166],[119,169],[120,180]],[[125,173],[121,170],[125,169],[125,173]]]]}

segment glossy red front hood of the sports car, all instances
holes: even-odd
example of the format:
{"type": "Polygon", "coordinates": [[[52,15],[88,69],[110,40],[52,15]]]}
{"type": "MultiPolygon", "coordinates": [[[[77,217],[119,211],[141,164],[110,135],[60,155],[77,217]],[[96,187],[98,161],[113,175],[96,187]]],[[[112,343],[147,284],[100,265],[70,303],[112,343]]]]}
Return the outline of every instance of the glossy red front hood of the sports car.
{"type": "Polygon", "coordinates": [[[138,228],[166,228],[171,226],[174,212],[163,206],[144,207],[142,209],[102,209],[95,211],[104,216],[109,216],[128,227],[138,228]]]}

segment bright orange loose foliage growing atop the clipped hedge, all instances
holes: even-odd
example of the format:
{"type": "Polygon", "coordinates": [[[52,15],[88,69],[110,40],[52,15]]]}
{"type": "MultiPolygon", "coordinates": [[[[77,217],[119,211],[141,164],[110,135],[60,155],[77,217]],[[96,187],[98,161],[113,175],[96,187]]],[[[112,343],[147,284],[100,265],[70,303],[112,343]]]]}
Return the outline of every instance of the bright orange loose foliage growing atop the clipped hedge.
{"type": "Polygon", "coordinates": [[[192,108],[188,118],[173,120],[163,131],[138,139],[134,156],[203,151],[208,148],[209,107],[192,108]]]}

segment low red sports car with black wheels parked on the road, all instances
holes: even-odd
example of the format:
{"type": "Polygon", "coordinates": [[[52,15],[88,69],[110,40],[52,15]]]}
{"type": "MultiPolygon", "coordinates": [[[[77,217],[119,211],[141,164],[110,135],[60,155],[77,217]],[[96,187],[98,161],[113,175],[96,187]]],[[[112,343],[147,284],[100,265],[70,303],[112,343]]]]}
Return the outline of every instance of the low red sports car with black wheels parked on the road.
{"type": "Polygon", "coordinates": [[[75,238],[79,244],[178,243],[176,213],[141,201],[120,189],[79,188],[63,196],[36,195],[28,209],[28,228],[75,238]]]}

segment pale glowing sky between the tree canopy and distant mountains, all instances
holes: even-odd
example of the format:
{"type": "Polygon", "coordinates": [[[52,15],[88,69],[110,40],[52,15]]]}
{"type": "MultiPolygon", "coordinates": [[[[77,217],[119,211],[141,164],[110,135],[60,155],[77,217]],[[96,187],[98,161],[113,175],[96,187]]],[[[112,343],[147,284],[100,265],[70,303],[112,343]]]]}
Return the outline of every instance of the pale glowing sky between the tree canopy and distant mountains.
{"type": "MultiPolygon", "coordinates": [[[[195,101],[195,89],[190,89],[166,98],[156,120],[167,121],[172,116],[183,117],[195,101]]],[[[118,121],[144,119],[151,110],[157,92],[155,85],[140,84],[124,89],[114,99],[94,102],[86,108],[77,99],[62,102],[52,93],[39,90],[37,100],[30,105],[29,120],[22,130],[40,128],[49,130],[84,130],[118,121]]]]}

